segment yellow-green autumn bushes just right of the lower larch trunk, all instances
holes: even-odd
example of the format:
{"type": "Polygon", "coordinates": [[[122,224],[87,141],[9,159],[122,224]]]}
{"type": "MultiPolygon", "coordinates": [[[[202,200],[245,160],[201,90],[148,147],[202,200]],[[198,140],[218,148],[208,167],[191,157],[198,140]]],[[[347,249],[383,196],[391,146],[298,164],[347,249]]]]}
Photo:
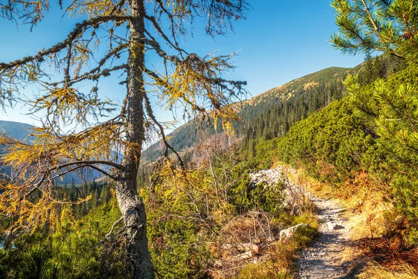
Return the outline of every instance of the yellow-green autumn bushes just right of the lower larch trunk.
{"type": "Polygon", "coordinates": [[[153,195],[147,195],[146,188],[141,189],[141,195],[149,198],[146,204],[148,212],[162,210],[163,216],[173,218],[192,218],[205,224],[214,218],[229,219],[233,206],[224,199],[224,191],[229,187],[213,175],[209,165],[197,169],[177,169],[172,162],[167,161],[157,175],[159,177],[153,195]],[[157,202],[157,206],[153,206],[157,202]]]}

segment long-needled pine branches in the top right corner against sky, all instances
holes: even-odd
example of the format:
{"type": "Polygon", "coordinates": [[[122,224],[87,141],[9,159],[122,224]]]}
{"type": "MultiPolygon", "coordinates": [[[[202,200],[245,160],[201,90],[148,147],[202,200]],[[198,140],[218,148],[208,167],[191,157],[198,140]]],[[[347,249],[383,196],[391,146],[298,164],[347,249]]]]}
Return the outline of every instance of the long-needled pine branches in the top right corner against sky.
{"type": "Polygon", "coordinates": [[[345,54],[385,52],[418,61],[415,0],[334,0],[339,33],[331,43],[345,54]]]}

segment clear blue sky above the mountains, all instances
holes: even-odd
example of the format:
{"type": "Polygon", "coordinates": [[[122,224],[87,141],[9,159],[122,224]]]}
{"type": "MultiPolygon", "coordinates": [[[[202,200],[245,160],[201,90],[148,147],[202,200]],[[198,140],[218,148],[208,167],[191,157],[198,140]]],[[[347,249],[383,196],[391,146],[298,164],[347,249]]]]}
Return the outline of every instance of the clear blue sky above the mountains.
{"type": "MultiPolygon", "coordinates": [[[[364,60],[363,56],[343,56],[328,43],[331,33],[336,31],[334,10],[329,0],[249,0],[252,8],[247,20],[235,22],[235,32],[215,39],[205,36],[203,22],[194,27],[194,36],[182,42],[188,52],[208,54],[219,50],[230,54],[239,50],[235,57],[235,80],[246,80],[247,89],[256,96],[268,89],[285,84],[323,68],[339,66],[353,67],[364,60]]],[[[56,5],[56,1],[52,1],[56,5]]],[[[53,9],[44,22],[32,32],[29,26],[17,27],[0,19],[0,61],[8,62],[29,54],[42,47],[49,47],[65,38],[77,22],[75,19],[59,20],[62,13],[53,9]],[[58,20],[57,20],[58,19],[58,20]]],[[[104,93],[119,100],[123,86],[106,80],[104,93]]],[[[33,89],[26,89],[28,91],[33,89]]],[[[34,123],[23,115],[25,109],[16,107],[0,112],[0,120],[34,123]]],[[[167,121],[171,114],[160,112],[160,120],[167,121]]]]}

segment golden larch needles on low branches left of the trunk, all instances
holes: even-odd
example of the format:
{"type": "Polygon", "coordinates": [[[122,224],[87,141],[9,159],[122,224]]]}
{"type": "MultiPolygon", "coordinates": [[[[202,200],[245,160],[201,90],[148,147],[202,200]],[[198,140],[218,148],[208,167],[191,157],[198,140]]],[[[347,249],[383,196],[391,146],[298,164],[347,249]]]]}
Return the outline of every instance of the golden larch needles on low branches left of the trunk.
{"type": "Polygon", "coordinates": [[[100,167],[102,161],[117,162],[116,151],[125,144],[123,133],[121,123],[109,121],[67,136],[57,135],[50,128],[36,128],[31,134],[34,140],[26,140],[29,143],[2,135],[0,144],[6,146],[7,152],[1,157],[1,164],[15,170],[13,193],[25,197],[44,184],[47,187],[57,183],[56,179],[67,172],[91,164],[100,167]]]}

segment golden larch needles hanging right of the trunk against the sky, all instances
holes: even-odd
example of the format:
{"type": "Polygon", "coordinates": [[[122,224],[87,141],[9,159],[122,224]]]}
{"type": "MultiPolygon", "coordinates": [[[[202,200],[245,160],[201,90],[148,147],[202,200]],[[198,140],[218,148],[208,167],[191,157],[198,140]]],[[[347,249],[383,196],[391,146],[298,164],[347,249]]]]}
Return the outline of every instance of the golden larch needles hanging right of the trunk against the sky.
{"type": "Polygon", "coordinates": [[[181,103],[187,114],[206,114],[217,122],[222,121],[226,133],[232,132],[231,121],[238,119],[231,105],[235,97],[242,93],[240,82],[231,82],[219,78],[219,74],[233,68],[229,64],[232,56],[210,56],[201,58],[189,54],[182,61],[175,63],[171,75],[149,73],[155,80],[154,84],[162,91],[160,103],[165,103],[168,109],[181,103]],[[235,92],[235,89],[237,92],[235,92]]]}

